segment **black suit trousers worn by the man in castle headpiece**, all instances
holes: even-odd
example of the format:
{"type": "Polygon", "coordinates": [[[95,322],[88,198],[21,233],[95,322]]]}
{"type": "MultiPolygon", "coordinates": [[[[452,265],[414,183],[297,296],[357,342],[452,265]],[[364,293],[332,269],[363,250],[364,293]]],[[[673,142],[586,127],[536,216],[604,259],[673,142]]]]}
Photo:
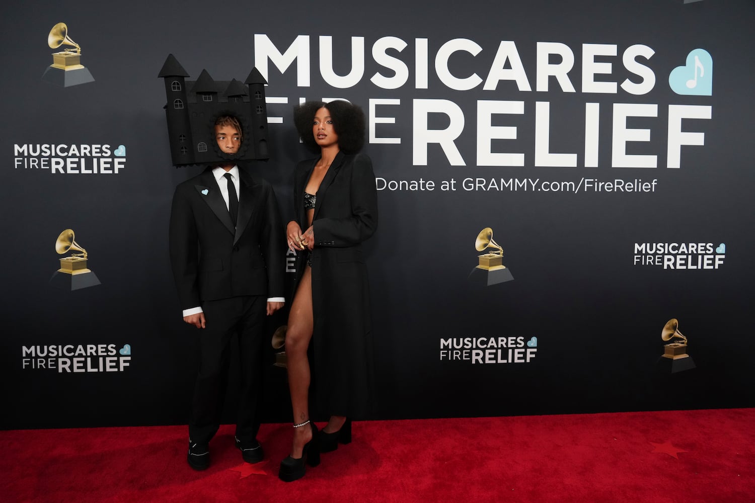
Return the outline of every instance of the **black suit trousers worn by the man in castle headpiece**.
{"type": "Polygon", "coordinates": [[[236,437],[253,440],[260,429],[265,296],[239,296],[202,302],[205,328],[199,329],[201,363],[194,388],[189,437],[208,443],[220,428],[228,369],[233,353],[239,358],[239,397],[236,437]],[[236,335],[238,345],[232,344],[236,335]]]}

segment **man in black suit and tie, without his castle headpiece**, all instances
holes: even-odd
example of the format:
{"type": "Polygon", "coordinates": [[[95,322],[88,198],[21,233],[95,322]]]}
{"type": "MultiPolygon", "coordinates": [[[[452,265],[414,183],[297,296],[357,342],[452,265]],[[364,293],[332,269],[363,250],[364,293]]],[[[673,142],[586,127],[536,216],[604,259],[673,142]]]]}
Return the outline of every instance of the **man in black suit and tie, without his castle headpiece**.
{"type": "Polygon", "coordinates": [[[220,427],[231,338],[238,336],[239,408],[236,446],[246,462],[263,459],[260,427],[263,325],[283,305],[285,243],[273,188],[233,162],[242,144],[239,121],[215,122],[227,161],[176,187],[170,254],[183,321],[200,329],[199,375],[189,422],[192,468],[210,464],[209,442],[220,427]]]}

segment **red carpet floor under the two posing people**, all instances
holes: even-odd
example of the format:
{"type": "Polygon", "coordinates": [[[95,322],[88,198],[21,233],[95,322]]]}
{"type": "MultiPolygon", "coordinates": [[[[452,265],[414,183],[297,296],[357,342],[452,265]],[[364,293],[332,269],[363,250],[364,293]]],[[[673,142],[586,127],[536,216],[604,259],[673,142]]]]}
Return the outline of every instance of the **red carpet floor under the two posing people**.
{"type": "Polygon", "coordinates": [[[2,501],[755,501],[755,409],[356,422],[293,483],[290,425],[246,465],[223,426],[212,465],[186,427],[0,431],[2,501]]]}

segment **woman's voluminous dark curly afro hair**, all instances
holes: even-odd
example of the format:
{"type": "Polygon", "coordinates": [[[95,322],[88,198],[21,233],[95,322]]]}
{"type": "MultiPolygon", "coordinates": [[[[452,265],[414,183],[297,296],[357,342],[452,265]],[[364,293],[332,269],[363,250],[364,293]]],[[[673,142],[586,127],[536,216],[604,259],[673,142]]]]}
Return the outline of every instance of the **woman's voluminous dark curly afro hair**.
{"type": "Polygon", "coordinates": [[[312,133],[312,123],[316,112],[325,107],[330,112],[333,129],[338,135],[338,148],[344,154],[356,154],[365,144],[365,113],[358,106],[344,100],[329,103],[307,101],[294,106],[294,124],[302,143],[313,152],[320,147],[312,133]]]}

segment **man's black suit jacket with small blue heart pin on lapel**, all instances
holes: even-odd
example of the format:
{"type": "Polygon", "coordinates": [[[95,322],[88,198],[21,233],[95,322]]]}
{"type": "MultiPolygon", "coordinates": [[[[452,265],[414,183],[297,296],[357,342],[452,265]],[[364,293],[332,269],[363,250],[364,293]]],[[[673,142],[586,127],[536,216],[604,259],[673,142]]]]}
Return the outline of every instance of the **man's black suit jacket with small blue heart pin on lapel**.
{"type": "Polygon", "coordinates": [[[284,296],[285,235],[272,186],[239,167],[236,228],[212,168],[176,187],[170,255],[181,308],[236,296],[284,296]]]}

